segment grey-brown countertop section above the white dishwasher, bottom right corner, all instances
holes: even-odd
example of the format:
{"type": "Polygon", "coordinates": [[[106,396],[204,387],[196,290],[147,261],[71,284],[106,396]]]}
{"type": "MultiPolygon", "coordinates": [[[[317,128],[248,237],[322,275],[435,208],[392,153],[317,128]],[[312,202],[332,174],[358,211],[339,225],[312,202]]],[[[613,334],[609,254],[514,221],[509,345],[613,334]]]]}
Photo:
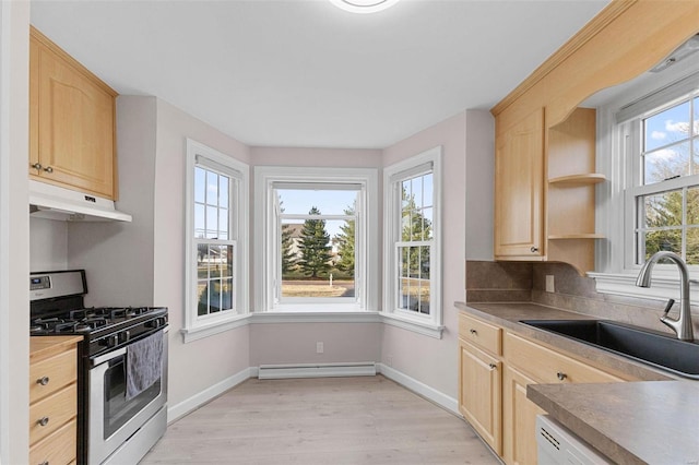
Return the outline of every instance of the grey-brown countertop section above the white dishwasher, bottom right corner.
{"type": "Polygon", "coordinates": [[[619,464],[699,464],[699,383],[530,384],[526,396],[619,464]]]}

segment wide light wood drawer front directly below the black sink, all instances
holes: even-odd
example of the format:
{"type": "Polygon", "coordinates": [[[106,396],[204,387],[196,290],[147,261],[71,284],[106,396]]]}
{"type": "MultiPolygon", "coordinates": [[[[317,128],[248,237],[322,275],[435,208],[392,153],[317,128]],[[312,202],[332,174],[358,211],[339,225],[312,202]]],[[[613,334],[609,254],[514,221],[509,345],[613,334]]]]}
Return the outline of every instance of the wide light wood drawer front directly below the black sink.
{"type": "Polygon", "coordinates": [[[508,362],[529,373],[538,383],[624,381],[512,333],[505,335],[503,351],[508,362]]]}

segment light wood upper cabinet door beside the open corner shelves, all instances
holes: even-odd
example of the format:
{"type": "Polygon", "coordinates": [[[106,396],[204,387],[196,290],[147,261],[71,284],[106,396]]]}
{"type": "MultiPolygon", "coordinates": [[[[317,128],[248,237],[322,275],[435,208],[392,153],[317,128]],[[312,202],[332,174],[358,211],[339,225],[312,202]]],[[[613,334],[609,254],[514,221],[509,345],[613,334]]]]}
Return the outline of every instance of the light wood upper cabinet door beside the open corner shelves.
{"type": "Polygon", "coordinates": [[[544,255],[544,110],[534,111],[496,141],[495,255],[544,255]]]}

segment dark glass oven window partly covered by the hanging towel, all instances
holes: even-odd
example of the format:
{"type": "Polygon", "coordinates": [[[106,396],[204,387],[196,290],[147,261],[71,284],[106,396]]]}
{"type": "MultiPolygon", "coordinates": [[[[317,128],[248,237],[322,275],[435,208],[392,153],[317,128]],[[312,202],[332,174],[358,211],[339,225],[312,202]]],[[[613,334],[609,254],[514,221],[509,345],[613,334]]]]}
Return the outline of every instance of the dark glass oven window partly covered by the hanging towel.
{"type": "Polygon", "coordinates": [[[161,393],[161,380],[127,401],[126,356],[109,361],[105,371],[105,438],[109,438],[161,393]]]}

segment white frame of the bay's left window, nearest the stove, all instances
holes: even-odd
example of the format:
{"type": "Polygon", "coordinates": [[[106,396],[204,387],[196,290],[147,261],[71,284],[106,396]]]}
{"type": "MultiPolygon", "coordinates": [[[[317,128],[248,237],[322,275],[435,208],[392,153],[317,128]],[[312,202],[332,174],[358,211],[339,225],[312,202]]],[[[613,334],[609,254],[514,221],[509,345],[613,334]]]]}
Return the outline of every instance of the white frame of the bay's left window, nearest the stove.
{"type": "MultiPolygon", "coordinates": [[[[186,156],[186,195],[185,195],[185,324],[181,330],[185,343],[208,337],[223,331],[237,327],[249,314],[249,167],[247,164],[222,152],[209,147],[192,139],[187,139],[186,156]],[[199,315],[196,286],[197,246],[201,240],[194,236],[194,169],[205,169],[222,174],[229,178],[228,230],[227,240],[222,245],[234,245],[233,287],[234,309],[199,315]]],[[[204,239],[205,242],[210,240],[204,239]]]]}

